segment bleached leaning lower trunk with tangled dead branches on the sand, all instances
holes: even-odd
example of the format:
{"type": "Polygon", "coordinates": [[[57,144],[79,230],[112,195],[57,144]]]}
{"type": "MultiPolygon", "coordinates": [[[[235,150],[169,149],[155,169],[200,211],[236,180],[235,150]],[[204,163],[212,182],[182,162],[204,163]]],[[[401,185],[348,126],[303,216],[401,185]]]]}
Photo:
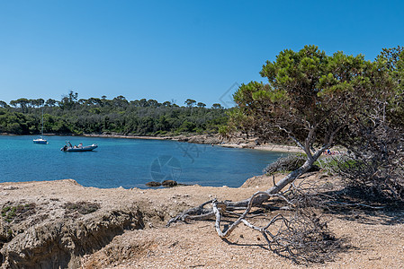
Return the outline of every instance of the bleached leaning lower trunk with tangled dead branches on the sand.
{"type": "Polygon", "coordinates": [[[243,223],[250,229],[261,233],[268,247],[275,253],[292,257],[297,262],[301,260],[315,262],[330,260],[333,252],[324,252],[320,248],[336,247],[339,242],[327,230],[327,223],[320,221],[319,215],[316,213],[316,204],[310,202],[310,197],[312,196],[310,191],[313,188],[309,187],[309,191],[306,191],[301,185],[294,184],[294,181],[306,173],[312,167],[313,162],[326,149],[327,146],[324,146],[319,151],[310,154],[310,158],[299,169],[292,171],[289,175],[276,182],[274,187],[266,191],[257,191],[249,198],[236,202],[220,202],[216,199],[207,201],[179,213],[175,218],[168,221],[166,226],[177,221],[214,219],[215,230],[219,237],[227,239],[233,230],[243,223]],[[283,191],[287,186],[289,187],[286,191],[283,191]],[[274,200],[282,202],[283,206],[277,207],[278,209],[283,209],[281,213],[271,212],[274,213],[274,216],[270,217],[269,221],[263,226],[258,226],[253,221],[249,221],[254,219],[255,216],[252,214],[253,208],[266,208],[265,203],[274,200]],[[207,207],[208,205],[211,205],[211,207],[207,207]],[[240,211],[241,213],[237,213],[240,211]],[[221,221],[226,215],[236,215],[237,218],[222,229],[221,221]],[[335,244],[330,244],[330,241],[335,242],[335,244]],[[319,255],[321,251],[323,254],[319,255]]]}

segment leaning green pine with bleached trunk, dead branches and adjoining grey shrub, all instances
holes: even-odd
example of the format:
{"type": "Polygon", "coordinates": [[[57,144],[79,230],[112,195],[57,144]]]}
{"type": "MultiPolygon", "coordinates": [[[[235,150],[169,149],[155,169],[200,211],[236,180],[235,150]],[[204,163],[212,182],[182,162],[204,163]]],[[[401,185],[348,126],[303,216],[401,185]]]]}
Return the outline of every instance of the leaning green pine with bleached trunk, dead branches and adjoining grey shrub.
{"type": "Polygon", "coordinates": [[[229,111],[227,131],[262,141],[287,139],[305,153],[299,167],[245,200],[214,199],[178,214],[168,224],[215,218],[218,235],[227,239],[243,223],[261,233],[277,254],[298,262],[324,262],[341,249],[341,241],[319,216],[328,204],[349,203],[341,203],[337,193],[319,195],[320,180],[310,187],[304,179],[294,182],[330,147],[341,145],[346,158],[337,160],[338,172],[346,178],[347,192],[357,187],[373,197],[404,200],[404,50],[383,49],[368,61],[343,52],[328,56],[316,46],[285,49],[274,62],[267,61],[260,74],[267,82],[242,84],[234,94],[237,107],[229,111]],[[269,221],[256,225],[251,220],[253,208],[268,206],[269,221]],[[238,218],[222,228],[222,219],[234,213],[238,218]]]}

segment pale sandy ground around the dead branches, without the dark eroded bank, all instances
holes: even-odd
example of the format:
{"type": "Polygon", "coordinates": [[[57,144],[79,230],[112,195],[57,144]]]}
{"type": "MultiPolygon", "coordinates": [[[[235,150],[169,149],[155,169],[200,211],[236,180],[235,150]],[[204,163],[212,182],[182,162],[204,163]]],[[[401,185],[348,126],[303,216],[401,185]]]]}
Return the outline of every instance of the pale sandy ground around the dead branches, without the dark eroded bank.
{"type": "MultiPolygon", "coordinates": [[[[313,176],[318,177],[318,176],[313,176]]],[[[275,178],[277,180],[279,178],[275,178]]],[[[326,178],[327,180],[335,180],[326,178]]],[[[255,177],[238,188],[175,187],[157,189],[100,189],[82,187],[71,179],[51,182],[0,184],[0,202],[49,203],[89,201],[103,211],[137,206],[144,214],[145,229],[127,230],[92,255],[82,268],[303,268],[276,256],[256,231],[240,225],[229,240],[218,237],[212,221],[166,221],[176,213],[216,197],[240,200],[272,185],[272,178],[255,177]]],[[[41,205],[43,204],[43,205],[41,205]]],[[[51,207],[49,207],[51,208],[51,207]]],[[[49,214],[50,214],[50,209],[49,214]]],[[[312,268],[403,268],[404,212],[351,211],[328,216],[329,228],[346,239],[346,251],[333,262],[312,268]]]]}

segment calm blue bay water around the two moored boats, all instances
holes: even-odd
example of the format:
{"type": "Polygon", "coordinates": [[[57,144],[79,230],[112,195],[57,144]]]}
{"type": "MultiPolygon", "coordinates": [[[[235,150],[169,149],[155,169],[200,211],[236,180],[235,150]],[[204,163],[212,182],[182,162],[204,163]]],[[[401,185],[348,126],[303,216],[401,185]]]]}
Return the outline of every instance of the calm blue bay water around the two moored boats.
{"type": "Polygon", "coordinates": [[[73,178],[86,187],[146,187],[175,179],[202,186],[241,186],[282,153],[229,149],[175,141],[77,136],[0,135],[0,182],[73,178]],[[60,152],[65,141],[97,143],[94,152],[60,152]]]}

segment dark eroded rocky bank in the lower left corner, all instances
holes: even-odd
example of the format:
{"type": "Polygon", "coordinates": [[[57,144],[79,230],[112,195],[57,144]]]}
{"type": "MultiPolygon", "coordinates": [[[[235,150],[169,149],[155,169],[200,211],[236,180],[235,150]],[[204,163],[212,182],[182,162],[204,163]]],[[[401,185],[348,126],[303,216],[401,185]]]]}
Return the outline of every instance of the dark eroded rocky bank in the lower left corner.
{"type": "Polygon", "coordinates": [[[124,230],[143,227],[141,213],[133,208],[94,213],[82,221],[46,221],[3,245],[2,268],[77,268],[85,254],[106,246],[124,230]]]}

